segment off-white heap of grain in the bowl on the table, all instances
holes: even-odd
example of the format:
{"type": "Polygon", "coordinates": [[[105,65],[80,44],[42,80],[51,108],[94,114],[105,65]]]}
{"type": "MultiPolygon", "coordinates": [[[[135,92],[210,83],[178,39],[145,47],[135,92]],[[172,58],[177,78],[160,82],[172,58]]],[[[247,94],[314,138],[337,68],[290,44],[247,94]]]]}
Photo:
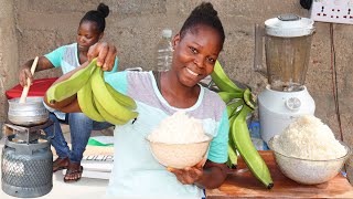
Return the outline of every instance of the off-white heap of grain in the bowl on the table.
{"type": "Polygon", "coordinates": [[[335,159],[346,155],[346,149],[335,139],[330,127],[311,115],[299,117],[276,135],[272,147],[282,155],[311,160],[335,159]]]}

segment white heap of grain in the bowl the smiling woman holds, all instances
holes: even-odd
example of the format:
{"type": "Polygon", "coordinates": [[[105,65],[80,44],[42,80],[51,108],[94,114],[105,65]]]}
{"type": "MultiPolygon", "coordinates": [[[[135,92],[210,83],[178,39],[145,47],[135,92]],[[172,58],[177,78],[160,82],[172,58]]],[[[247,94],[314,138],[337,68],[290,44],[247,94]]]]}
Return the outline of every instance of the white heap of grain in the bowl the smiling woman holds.
{"type": "Polygon", "coordinates": [[[199,119],[186,115],[185,112],[176,112],[163,119],[148,139],[165,144],[191,144],[208,140],[210,137],[204,134],[199,119]]]}

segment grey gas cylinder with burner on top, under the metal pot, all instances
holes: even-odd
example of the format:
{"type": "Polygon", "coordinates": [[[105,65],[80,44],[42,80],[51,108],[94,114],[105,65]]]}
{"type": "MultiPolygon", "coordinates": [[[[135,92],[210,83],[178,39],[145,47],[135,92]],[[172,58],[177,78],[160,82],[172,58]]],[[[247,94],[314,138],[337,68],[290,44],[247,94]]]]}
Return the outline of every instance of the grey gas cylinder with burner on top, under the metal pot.
{"type": "Polygon", "coordinates": [[[52,121],[35,126],[4,124],[4,147],[1,156],[1,187],[14,197],[33,198],[53,188],[53,154],[44,128],[52,121]]]}

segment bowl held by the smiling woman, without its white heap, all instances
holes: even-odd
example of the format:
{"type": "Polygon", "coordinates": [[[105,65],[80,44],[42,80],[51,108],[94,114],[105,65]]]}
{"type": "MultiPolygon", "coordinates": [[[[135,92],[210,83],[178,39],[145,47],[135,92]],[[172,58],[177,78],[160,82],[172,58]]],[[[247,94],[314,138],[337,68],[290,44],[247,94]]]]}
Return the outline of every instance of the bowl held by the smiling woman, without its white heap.
{"type": "Polygon", "coordinates": [[[165,144],[151,142],[150,148],[153,157],[163,166],[182,169],[185,167],[192,167],[205,158],[208,149],[208,140],[191,144],[165,144]]]}

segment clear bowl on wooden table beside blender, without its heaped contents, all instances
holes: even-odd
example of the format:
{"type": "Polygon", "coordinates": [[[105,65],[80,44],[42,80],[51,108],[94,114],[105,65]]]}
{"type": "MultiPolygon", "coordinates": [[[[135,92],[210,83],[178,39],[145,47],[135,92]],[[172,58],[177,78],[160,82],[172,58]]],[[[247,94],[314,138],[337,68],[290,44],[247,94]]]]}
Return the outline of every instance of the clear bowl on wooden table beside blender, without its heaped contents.
{"type": "Polygon", "coordinates": [[[327,160],[311,160],[290,157],[280,154],[274,148],[274,138],[268,142],[268,147],[274,150],[276,163],[281,172],[288,178],[303,185],[317,185],[329,181],[342,169],[350,156],[350,147],[341,143],[346,149],[343,157],[327,160]]]}

